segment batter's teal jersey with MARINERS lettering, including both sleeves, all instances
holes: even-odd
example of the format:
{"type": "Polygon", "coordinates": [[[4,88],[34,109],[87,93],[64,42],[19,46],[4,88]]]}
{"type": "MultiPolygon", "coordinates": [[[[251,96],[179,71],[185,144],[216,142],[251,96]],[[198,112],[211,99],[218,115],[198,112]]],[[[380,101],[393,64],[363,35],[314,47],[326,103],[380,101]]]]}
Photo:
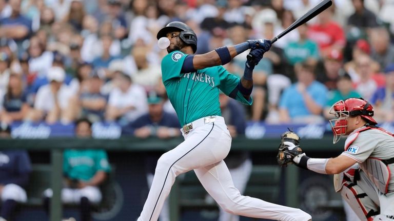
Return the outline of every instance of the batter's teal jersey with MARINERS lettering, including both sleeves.
{"type": "MultiPolygon", "coordinates": [[[[221,116],[219,90],[229,95],[240,78],[223,66],[181,73],[186,56],[181,51],[173,51],[162,60],[163,83],[179,122],[185,125],[202,117],[221,116]]],[[[235,99],[246,105],[252,104],[252,98],[248,101],[239,91],[235,99]]]]}

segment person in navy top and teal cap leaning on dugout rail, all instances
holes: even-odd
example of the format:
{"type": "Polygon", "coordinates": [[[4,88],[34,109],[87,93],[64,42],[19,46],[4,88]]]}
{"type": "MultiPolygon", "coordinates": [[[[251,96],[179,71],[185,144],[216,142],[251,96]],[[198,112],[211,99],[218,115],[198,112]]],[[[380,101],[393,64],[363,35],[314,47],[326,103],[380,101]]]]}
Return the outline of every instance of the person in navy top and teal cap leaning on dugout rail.
{"type": "MultiPolygon", "coordinates": [[[[156,93],[151,92],[148,95],[148,113],[136,118],[122,129],[123,135],[134,135],[139,138],[147,138],[155,136],[160,139],[167,139],[181,135],[181,125],[175,114],[167,113],[163,110],[163,98],[157,96],[156,93]]],[[[145,170],[147,176],[148,186],[153,182],[153,175],[156,168],[157,160],[162,153],[149,153],[145,157],[145,170]]],[[[163,206],[162,212],[159,216],[160,221],[170,221],[169,219],[169,204],[163,206]]]]}

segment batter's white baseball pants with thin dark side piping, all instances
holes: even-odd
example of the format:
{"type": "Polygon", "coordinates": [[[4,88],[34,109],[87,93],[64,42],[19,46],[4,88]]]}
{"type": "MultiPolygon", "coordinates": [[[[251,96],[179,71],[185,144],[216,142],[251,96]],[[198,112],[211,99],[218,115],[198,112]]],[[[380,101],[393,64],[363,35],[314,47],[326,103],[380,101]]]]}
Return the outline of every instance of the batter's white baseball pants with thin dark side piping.
{"type": "Polygon", "coordinates": [[[231,146],[223,117],[204,122],[208,120],[195,120],[193,129],[184,134],[185,141],[159,158],[148,198],[137,221],[156,221],[175,177],[190,170],[194,170],[203,187],[226,212],[282,221],[311,219],[300,209],[241,195],[223,161],[231,146]]]}

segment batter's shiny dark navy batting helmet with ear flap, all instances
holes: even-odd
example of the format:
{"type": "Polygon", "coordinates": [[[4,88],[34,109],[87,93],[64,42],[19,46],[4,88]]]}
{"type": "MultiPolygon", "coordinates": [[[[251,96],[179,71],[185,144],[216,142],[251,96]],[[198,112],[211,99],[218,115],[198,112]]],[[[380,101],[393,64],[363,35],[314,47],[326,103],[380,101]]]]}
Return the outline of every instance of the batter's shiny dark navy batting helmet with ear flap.
{"type": "Polygon", "coordinates": [[[157,33],[157,39],[161,37],[165,37],[168,32],[171,31],[181,31],[179,34],[179,37],[184,41],[187,45],[190,45],[193,49],[193,52],[197,50],[197,35],[194,33],[194,31],[187,26],[183,22],[170,22],[166,25],[166,27],[162,28],[158,33],[157,33]]]}

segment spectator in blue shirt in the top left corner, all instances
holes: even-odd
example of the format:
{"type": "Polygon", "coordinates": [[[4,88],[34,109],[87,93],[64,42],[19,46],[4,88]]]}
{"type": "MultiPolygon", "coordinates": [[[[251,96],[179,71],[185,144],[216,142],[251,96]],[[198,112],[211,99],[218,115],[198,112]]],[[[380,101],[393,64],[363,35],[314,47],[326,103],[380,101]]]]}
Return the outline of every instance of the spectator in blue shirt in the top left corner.
{"type": "Polygon", "coordinates": [[[0,19],[0,37],[12,38],[20,44],[30,35],[32,22],[21,15],[21,0],[10,0],[9,5],[12,13],[10,17],[0,19]]]}

